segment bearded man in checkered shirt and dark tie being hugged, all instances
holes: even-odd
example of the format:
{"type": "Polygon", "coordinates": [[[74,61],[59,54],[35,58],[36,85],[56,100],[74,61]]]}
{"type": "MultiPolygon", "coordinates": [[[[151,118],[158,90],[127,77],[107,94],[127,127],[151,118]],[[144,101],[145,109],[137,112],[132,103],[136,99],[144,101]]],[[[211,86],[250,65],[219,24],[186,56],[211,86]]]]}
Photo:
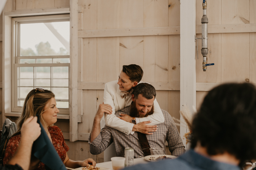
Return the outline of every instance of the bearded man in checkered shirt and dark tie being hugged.
{"type": "MultiPolygon", "coordinates": [[[[117,117],[130,116],[146,117],[154,113],[154,100],[156,97],[156,89],[148,83],[138,84],[132,93],[132,104],[125,107],[115,114],[117,117]],[[121,115],[120,115],[121,114],[121,115]]],[[[125,134],[119,130],[105,127],[100,131],[100,119],[104,112],[111,114],[112,107],[107,104],[101,104],[95,115],[92,132],[89,136],[90,152],[94,155],[103,152],[112,142],[116,147],[116,155],[124,157],[124,149],[132,147],[134,149],[134,158],[150,155],[149,148],[164,148],[165,141],[168,142],[169,150],[173,156],[180,156],[185,152],[185,146],[182,143],[178,129],[171,115],[162,109],[164,122],[157,125],[157,130],[152,134],[142,134],[135,132],[134,134],[125,134]]],[[[140,122],[145,123],[145,122],[140,122]]],[[[138,123],[139,125],[139,123],[138,123]]],[[[137,126],[134,125],[134,128],[137,126]]]]}

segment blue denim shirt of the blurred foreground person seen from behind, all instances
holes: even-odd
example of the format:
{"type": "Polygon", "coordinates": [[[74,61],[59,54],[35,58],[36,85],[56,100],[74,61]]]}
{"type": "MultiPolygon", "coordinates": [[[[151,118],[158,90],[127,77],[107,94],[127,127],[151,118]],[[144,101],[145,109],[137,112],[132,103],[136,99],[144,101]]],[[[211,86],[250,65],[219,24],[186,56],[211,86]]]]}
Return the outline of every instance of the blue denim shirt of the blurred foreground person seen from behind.
{"type": "Polygon", "coordinates": [[[238,166],[217,162],[206,158],[194,150],[187,151],[184,155],[173,160],[163,160],[154,163],[130,166],[124,170],[241,170],[238,166]]]}

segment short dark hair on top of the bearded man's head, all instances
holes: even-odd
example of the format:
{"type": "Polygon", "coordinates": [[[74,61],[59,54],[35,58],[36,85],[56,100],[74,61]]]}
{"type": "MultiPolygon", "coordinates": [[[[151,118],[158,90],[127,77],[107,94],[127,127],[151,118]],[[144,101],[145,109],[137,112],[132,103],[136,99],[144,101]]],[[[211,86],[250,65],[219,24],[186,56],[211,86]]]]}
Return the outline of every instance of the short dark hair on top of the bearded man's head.
{"type": "Polygon", "coordinates": [[[132,92],[135,99],[138,99],[139,94],[141,94],[146,99],[156,98],[156,89],[153,85],[148,83],[140,83],[135,86],[134,91],[132,92]]]}

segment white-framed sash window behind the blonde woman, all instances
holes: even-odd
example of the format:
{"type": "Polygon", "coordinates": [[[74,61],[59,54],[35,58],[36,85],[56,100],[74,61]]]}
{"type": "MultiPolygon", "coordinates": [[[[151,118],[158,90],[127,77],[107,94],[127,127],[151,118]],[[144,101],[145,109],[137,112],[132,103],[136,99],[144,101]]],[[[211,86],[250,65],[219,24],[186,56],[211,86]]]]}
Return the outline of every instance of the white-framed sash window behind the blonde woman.
{"type": "Polygon", "coordinates": [[[20,112],[32,89],[55,94],[69,114],[69,14],[12,18],[12,112],[20,112]]]}

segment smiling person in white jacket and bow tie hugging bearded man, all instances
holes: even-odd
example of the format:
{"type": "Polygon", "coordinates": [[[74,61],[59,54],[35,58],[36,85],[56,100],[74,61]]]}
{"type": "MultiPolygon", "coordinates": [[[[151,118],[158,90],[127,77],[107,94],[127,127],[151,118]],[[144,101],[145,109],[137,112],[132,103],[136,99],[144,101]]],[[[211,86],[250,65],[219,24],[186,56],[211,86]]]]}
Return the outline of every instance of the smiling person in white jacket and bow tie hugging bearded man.
{"type": "MultiPolygon", "coordinates": [[[[154,114],[149,115],[148,117],[138,118],[126,115],[116,117],[115,115],[116,111],[131,105],[131,93],[133,88],[141,83],[140,80],[142,79],[142,76],[143,70],[139,65],[123,65],[118,80],[105,84],[104,104],[108,104],[112,107],[112,114],[104,114],[105,118],[100,122],[101,128],[106,124],[127,135],[133,134],[134,131],[151,134],[149,132],[156,131],[156,126],[154,125],[164,122],[163,113],[156,100],[154,101],[154,114]]],[[[110,161],[110,158],[114,156],[116,156],[116,152],[115,146],[112,144],[106,152],[104,152],[104,161],[110,161]]]]}

